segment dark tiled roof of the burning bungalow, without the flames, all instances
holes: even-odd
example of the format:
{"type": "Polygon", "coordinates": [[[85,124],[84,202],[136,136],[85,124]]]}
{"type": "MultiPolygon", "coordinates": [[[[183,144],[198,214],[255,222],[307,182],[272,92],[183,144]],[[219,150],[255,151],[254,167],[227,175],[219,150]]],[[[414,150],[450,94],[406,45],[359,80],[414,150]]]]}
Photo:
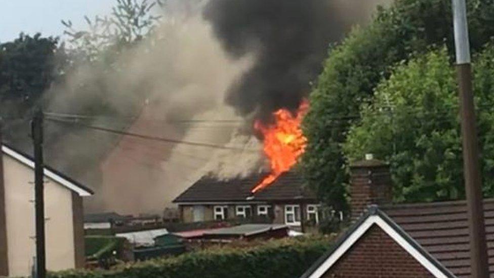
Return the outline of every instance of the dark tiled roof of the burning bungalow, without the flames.
{"type": "Polygon", "coordinates": [[[267,188],[251,193],[268,173],[253,174],[245,178],[219,180],[204,176],[180,194],[174,203],[185,202],[269,202],[290,200],[316,200],[316,195],[304,189],[302,176],[295,172],[286,172],[267,188]],[[248,200],[249,198],[249,200],[248,200]]]}

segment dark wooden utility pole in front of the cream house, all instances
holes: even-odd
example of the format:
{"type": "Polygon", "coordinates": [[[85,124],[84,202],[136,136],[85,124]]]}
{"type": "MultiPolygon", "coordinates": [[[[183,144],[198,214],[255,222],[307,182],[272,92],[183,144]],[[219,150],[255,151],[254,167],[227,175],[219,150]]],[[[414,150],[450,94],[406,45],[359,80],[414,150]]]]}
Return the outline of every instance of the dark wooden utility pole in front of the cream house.
{"type": "Polygon", "coordinates": [[[31,122],[34,145],[34,207],[36,217],[36,277],[46,277],[45,194],[43,165],[43,111],[36,110],[31,122]]]}

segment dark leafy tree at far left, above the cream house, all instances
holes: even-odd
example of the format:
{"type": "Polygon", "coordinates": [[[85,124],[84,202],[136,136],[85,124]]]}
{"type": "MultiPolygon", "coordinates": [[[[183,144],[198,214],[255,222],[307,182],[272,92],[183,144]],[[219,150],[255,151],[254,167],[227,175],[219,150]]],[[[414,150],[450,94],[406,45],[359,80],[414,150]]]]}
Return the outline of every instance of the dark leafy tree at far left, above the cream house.
{"type": "Polygon", "coordinates": [[[20,34],[0,44],[0,103],[2,114],[22,116],[61,75],[58,39],[20,34]]]}

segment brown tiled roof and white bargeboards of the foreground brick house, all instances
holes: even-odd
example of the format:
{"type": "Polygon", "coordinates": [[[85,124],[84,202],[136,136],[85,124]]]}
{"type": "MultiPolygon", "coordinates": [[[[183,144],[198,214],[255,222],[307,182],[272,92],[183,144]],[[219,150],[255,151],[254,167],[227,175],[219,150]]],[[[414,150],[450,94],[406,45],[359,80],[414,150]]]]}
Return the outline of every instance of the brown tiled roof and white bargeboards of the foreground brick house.
{"type": "MultiPolygon", "coordinates": [[[[489,272],[494,274],[494,199],[484,200],[489,272]]],[[[379,225],[403,249],[436,277],[470,277],[470,245],[465,201],[370,206],[335,247],[302,277],[320,277],[350,250],[373,224],[379,225]]]]}

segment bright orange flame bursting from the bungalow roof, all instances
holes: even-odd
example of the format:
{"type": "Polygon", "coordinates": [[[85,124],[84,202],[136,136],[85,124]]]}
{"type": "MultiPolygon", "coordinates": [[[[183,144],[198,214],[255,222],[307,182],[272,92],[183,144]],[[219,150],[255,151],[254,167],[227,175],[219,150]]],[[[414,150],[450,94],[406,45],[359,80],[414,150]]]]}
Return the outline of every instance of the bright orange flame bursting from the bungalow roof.
{"type": "Polygon", "coordinates": [[[309,109],[309,102],[304,99],[294,116],[289,110],[279,109],[273,113],[275,123],[268,127],[256,121],[254,128],[264,135],[264,153],[269,158],[271,173],[265,177],[252,193],[267,187],[281,174],[289,171],[305,151],[307,138],[302,133],[300,124],[309,109]]]}

